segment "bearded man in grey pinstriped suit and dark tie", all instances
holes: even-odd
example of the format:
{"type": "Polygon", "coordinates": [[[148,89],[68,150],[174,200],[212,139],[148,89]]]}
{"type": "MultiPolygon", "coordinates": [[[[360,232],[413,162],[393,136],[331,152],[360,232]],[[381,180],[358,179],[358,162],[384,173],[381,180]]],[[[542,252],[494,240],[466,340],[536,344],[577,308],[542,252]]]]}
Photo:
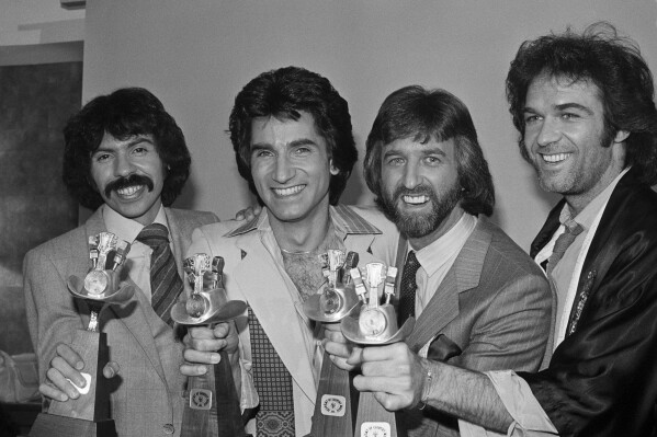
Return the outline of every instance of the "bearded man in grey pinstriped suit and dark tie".
{"type": "MultiPolygon", "coordinates": [[[[537,370],[548,349],[552,291],[541,268],[485,217],[494,187],[467,107],[443,90],[403,88],[384,101],[366,146],[367,186],[408,240],[397,256],[406,258],[399,324],[410,315],[417,322],[406,343],[364,350],[330,332],[333,361],[361,365],[367,383],[356,377],[354,386],[381,391],[386,407],[387,394],[369,381],[385,381],[385,392],[417,384],[431,378],[420,360],[537,370]]],[[[400,418],[410,436],[458,434],[456,419],[433,409],[408,409],[400,418]]]]}

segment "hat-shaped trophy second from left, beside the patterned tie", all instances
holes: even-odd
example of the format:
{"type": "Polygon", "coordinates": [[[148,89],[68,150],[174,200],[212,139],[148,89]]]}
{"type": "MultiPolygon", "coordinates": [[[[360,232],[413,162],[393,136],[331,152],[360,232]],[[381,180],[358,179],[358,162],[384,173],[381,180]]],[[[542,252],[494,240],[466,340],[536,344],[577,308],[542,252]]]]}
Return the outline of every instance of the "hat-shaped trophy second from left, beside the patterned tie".
{"type": "MultiPolygon", "coordinates": [[[[241,300],[226,301],[223,257],[215,256],[211,262],[209,255],[196,253],[185,258],[183,266],[194,289],[185,302],[178,302],[171,308],[171,319],[177,323],[212,325],[228,322],[247,310],[241,300]]],[[[183,410],[182,437],[245,435],[230,360],[225,350],[219,355],[222,360],[209,366],[205,375],[188,379],[190,399],[183,410]]]]}

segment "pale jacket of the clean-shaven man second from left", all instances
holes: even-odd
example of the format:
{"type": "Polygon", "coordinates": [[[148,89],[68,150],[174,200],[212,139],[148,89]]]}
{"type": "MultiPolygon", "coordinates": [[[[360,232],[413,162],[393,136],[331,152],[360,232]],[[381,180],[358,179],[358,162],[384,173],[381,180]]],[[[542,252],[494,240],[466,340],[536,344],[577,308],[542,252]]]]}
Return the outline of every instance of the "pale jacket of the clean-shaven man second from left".
{"type": "MultiPolygon", "coordinates": [[[[366,221],[380,216],[380,212],[372,208],[342,208],[342,212],[344,209],[347,214],[356,212],[366,221]]],[[[340,227],[333,207],[331,218],[336,228],[340,227]]],[[[314,334],[313,323],[303,313],[298,292],[284,272],[282,260],[273,257],[263,244],[267,231],[257,229],[258,220],[259,218],[256,218],[252,223],[246,225],[224,221],[204,226],[194,231],[190,253],[203,252],[224,257],[224,286],[228,299],[249,303],[290,371],[294,388],[295,432],[297,436],[305,436],[310,432],[318,383],[313,359],[308,359],[314,356],[314,350],[305,348],[307,336],[314,334]]],[[[372,231],[348,233],[344,245],[348,251],[359,253],[360,265],[374,261],[389,264],[394,261],[397,235],[394,225],[382,221],[381,228],[377,223],[372,231]],[[372,253],[380,256],[375,257],[372,253]]],[[[270,237],[273,239],[273,234],[270,237]]],[[[250,361],[250,337],[246,315],[237,321],[237,326],[240,355],[242,359],[250,361]]],[[[321,355],[317,356],[320,357],[321,355]]]]}

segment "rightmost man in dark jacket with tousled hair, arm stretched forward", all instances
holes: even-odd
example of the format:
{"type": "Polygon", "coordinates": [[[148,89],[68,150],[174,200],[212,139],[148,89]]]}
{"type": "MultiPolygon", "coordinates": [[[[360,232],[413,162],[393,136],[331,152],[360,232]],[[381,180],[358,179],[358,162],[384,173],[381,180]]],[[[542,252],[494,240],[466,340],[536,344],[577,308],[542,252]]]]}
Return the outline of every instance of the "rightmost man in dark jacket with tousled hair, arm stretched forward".
{"type": "Polygon", "coordinates": [[[389,390],[365,350],[372,367],[354,384],[389,410],[426,404],[506,435],[656,436],[652,73],[634,42],[598,23],[525,42],[507,95],[522,156],[564,196],[532,244],[558,292],[550,366],[477,373],[417,359],[418,377],[389,390]]]}

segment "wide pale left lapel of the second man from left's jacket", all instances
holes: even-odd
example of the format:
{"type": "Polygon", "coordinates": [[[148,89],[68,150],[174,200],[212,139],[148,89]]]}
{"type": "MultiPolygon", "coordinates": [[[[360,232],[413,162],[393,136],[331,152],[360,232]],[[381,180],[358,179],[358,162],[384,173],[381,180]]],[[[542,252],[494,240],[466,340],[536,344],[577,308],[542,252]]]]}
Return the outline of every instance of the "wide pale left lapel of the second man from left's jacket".
{"type": "Polygon", "coordinates": [[[299,359],[305,340],[301,330],[290,329],[299,315],[290,296],[294,287],[281,276],[272,255],[260,241],[259,232],[237,237],[243,257],[235,266],[233,278],[258,317],[270,342],[276,349],[292,378],[311,400],[316,398],[313,369],[307,359],[299,359]]]}

